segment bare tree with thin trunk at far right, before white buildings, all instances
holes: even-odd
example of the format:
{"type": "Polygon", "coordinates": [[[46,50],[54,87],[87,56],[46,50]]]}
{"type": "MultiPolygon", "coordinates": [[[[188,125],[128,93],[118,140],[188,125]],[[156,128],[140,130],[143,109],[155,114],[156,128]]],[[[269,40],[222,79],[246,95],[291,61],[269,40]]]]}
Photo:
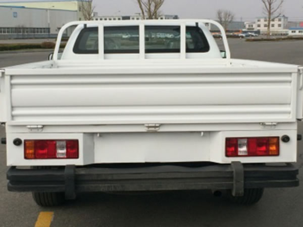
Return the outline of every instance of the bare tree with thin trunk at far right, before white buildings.
{"type": "Polygon", "coordinates": [[[267,36],[270,36],[271,20],[281,16],[284,0],[261,0],[264,14],[267,16],[267,36]]]}

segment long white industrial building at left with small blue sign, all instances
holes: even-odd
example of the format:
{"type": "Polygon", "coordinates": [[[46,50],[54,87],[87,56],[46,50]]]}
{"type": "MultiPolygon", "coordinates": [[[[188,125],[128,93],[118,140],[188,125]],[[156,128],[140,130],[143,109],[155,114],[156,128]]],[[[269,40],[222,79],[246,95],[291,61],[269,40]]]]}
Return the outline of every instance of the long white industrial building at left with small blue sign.
{"type": "Polygon", "coordinates": [[[75,20],[77,11],[0,6],[0,39],[56,37],[75,20]]]}

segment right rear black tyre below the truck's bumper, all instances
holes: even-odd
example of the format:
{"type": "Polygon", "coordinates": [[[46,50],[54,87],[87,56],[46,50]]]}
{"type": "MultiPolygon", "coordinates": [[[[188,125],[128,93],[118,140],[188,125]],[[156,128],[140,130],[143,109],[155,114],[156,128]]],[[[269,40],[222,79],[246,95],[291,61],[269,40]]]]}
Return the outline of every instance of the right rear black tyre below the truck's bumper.
{"type": "Polygon", "coordinates": [[[244,189],[244,195],[241,197],[234,197],[229,191],[229,197],[232,202],[241,205],[253,205],[260,201],[263,196],[264,189],[263,188],[252,188],[252,189],[244,189]]]}

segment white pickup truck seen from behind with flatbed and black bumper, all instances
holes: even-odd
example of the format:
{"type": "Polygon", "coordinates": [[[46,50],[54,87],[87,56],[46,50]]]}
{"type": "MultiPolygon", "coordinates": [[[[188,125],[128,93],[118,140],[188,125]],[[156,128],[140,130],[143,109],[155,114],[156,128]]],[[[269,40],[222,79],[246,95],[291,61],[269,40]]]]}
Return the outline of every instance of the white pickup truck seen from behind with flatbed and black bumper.
{"type": "Polygon", "coordinates": [[[205,189],[254,204],[264,188],[298,186],[302,68],[231,59],[215,21],[69,23],[52,60],[1,70],[0,103],[8,189],[41,206],[205,189]]]}

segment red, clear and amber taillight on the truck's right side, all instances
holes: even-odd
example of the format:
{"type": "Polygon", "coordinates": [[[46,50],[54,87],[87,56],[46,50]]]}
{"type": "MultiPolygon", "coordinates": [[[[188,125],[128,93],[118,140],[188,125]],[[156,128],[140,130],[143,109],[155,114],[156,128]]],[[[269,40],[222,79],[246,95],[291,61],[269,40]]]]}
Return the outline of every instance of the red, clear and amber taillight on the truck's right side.
{"type": "Polygon", "coordinates": [[[278,156],[279,137],[226,138],[227,157],[278,156]]]}

